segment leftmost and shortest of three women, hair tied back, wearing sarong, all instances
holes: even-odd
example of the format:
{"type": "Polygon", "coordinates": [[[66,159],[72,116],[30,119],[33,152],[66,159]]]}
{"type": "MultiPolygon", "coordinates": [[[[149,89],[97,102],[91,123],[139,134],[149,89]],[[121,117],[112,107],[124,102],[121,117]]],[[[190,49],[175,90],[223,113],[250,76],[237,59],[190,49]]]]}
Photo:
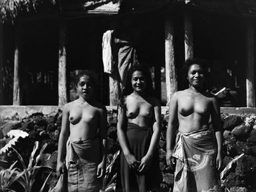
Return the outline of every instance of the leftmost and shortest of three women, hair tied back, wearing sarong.
{"type": "Polygon", "coordinates": [[[94,100],[96,78],[78,76],[79,98],[63,108],[57,175],[68,175],[68,192],[99,191],[106,169],[106,108],[94,100]],[[64,162],[64,149],[66,159],[64,162]]]}

